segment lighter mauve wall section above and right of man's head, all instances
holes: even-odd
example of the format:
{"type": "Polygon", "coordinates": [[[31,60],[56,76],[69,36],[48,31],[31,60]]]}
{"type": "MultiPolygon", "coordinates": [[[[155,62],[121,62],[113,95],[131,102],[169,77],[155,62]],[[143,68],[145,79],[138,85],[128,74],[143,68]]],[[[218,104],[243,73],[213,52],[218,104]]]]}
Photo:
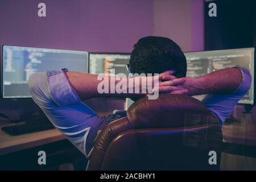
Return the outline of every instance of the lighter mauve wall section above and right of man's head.
{"type": "Polygon", "coordinates": [[[154,35],[174,40],[187,51],[204,50],[203,0],[153,0],[154,35]]]}

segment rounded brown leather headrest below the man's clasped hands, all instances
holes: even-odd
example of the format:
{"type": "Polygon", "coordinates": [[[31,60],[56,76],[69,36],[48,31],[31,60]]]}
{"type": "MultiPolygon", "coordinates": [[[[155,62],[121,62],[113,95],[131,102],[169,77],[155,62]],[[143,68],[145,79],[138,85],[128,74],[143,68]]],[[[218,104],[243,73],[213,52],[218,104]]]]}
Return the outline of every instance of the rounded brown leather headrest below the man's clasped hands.
{"type": "Polygon", "coordinates": [[[218,125],[218,119],[202,102],[176,94],[160,94],[157,100],[144,97],[129,107],[127,117],[133,128],[218,125]]]}

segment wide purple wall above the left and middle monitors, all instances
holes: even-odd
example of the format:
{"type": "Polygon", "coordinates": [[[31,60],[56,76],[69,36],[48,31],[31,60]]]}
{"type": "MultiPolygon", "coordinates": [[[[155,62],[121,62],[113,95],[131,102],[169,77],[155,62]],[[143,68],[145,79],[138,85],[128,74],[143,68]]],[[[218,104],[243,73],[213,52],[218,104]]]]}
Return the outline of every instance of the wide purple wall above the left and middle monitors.
{"type": "Polygon", "coordinates": [[[1,0],[0,44],[130,52],[152,35],[151,0],[1,0]],[[38,17],[38,3],[47,17],[38,17]]]}

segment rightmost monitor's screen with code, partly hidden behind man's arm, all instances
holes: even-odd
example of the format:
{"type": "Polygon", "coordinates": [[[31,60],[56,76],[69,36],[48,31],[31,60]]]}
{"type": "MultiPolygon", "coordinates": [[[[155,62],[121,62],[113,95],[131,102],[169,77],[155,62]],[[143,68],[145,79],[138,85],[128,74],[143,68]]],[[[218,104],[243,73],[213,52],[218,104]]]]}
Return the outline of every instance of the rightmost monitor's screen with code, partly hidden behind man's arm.
{"type": "MultiPolygon", "coordinates": [[[[254,102],[254,48],[228,49],[221,51],[187,52],[187,76],[198,77],[218,69],[230,68],[235,65],[245,67],[251,73],[251,88],[238,103],[253,104],[254,102]]],[[[203,100],[204,96],[195,96],[203,100]]]]}

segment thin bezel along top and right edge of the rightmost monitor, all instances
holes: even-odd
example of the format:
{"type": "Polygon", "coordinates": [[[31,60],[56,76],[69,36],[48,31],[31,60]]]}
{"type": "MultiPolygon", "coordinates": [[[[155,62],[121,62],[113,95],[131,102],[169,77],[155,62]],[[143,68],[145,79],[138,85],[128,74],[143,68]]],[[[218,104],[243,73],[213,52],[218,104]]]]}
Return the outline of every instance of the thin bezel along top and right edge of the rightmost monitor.
{"type": "Polygon", "coordinates": [[[255,98],[255,89],[254,89],[254,78],[255,78],[255,73],[254,73],[254,66],[255,66],[255,64],[254,64],[254,61],[255,61],[255,57],[254,57],[254,53],[255,53],[255,48],[254,47],[246,47],[246,48],[236,48],[236,49],[221,49],[221,50],[213,50],[213,51],[191,51],[191,52],[184,52],[184,53],[201,53],[201,52],[205,52],[205,53],[214,53],[214,52],[225,52],[225,51],[252,51],[253,53],[252,53],[252,55],[251,55],[251,60],[253,60],[253,61],[251,61],[251,68],[252,68],[252,70],[253,70],[253,73],[251,73],[250,72],[250,74],[251,74],[251,92],[253,93],[253,98],[252,98],[252,102],[248,102],[248,103],[245,103],[245,102],[243,102],[243,103],[241,103],[241,100],[240,101],[238,101],[238,104],[240,104],[240,105],[255,105],[255,100],[256,100],[256,98],[255,98]]]}

